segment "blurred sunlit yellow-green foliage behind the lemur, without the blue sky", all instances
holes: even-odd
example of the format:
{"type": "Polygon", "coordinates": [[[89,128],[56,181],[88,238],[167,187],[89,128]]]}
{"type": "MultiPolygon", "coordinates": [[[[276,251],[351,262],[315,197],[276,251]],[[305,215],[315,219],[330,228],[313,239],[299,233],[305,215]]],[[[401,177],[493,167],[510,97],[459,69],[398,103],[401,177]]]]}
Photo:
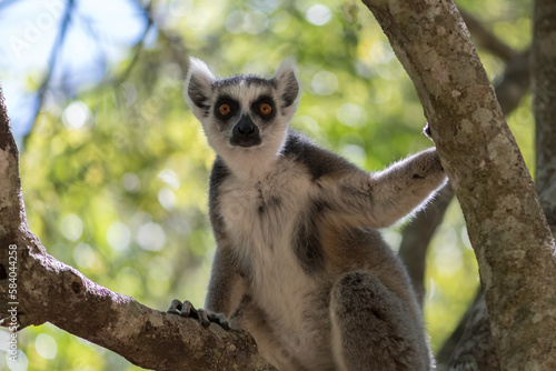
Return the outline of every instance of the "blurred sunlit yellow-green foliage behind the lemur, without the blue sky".
{"type": "MultiPolygon", "coordinates": [[[[271,76],[295,56],[304,94],[292,126],[365,169],[433,146],[420,134],[426,119],[413,84],[370,12],[351,1],[320,1],[328,11],[316,4],[197,1],[181,18],[169,12],[163,31],[179,34],[187,52],[220,76],[271,76]]],[[[530,40],[526,1],[458,6],[515,48],[530,40]]],[[[171,48],[159,33],[122,83],[99,83],[49,106],[21,158],[29,223],[49,253],[160,310],[173,298],[202,304],[215,245],[206,197],[214,153],[183,102],[185,71],[171,48]]],[[[118,81],[132,58],[130,51],[106,81],[118,81]]],[[[493,78],[502,72],[503,62],[483,51],[481,58],[493,78]]],[[[528,104],[509,122],[532,164],[528,104]]],[[[389,234],[399,240],[398,231],[389,234]]],[[[426,322],[438,349],[478,285],[456,204],[428,254],[426,322]]],[[[19,339],[30,370],[136,369],[52,325],[19,339]]]]}

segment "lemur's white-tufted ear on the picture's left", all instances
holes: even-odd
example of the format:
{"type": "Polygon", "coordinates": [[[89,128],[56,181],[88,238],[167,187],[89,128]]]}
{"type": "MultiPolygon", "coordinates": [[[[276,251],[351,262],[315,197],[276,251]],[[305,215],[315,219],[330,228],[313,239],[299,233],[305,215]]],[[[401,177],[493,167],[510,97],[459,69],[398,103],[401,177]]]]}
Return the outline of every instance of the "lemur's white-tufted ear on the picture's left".
{"type": "Polygon", "coordinates": [[[200,119],[209,114],[210,90],[216,77],[210,72],[207,64],[197,58],[189,59],[189,71],[186,79],[185,96],[186,101],[193,111],[193,114],[200,119]]]}

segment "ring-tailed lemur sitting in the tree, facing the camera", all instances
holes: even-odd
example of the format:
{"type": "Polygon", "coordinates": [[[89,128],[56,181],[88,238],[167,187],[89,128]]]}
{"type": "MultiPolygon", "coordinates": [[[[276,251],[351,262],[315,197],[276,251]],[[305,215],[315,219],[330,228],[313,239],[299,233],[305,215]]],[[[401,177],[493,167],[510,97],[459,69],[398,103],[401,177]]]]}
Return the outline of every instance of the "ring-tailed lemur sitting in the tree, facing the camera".
{"type": "Polygon", "coordinates": [[[445,182],[436,151],[368,173],[288,129],[299,94],[290,60],[271,79],[217,79],[191,59],[217,251],[206,310],[169,311],[247,330],[279,370],[429,370],[411,283],[376,229],[445,182]]]}

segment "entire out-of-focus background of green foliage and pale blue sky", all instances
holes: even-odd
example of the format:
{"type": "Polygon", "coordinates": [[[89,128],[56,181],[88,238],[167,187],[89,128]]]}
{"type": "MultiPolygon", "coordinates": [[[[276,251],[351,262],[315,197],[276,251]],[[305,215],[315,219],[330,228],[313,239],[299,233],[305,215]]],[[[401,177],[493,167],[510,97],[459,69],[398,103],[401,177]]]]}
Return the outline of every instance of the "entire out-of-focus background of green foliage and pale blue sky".
{"type": "MultiPolygon", "coordinates": [[[[525,0],[456,1],[515,50],[530,41],[525,0]]],[[[371,171],[433,143],[414,87],[371,13],[328,0],[3,0],[0,83],[20,149],[31,230],[48,252],[110,290],[166,310],[202,305],[215,242],[207,178],[215,154],[182,98],[189,56],[218,76],[270,77],[294,56],[304,93],[291,126],[371,171]]],[[[504,61],[479,50],[495,81],[504,61]]],[[[530,98],[509,117],[533,169],[530,98]]],[[[403,224],[385,230],[393,249],[403,224]]],[[[433,347],[478,287],[457,202],[427,258],[433,347]]],[[[44,324],[0,369],[137,370],[44,324]]]]}

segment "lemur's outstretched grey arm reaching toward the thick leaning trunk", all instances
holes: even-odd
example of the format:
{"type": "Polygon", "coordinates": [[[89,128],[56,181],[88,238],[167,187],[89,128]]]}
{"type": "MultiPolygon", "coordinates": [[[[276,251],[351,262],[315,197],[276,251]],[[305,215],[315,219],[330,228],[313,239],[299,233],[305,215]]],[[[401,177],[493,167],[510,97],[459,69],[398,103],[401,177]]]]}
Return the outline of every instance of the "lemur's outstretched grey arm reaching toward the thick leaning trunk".
{"type": "Polygon", "coordinates": [[[388,227],[409,214],[446,180],[436,150],[410,156],[377,172],[334,172],[319,181],[332,208],[356,222],[388,227]]]}

